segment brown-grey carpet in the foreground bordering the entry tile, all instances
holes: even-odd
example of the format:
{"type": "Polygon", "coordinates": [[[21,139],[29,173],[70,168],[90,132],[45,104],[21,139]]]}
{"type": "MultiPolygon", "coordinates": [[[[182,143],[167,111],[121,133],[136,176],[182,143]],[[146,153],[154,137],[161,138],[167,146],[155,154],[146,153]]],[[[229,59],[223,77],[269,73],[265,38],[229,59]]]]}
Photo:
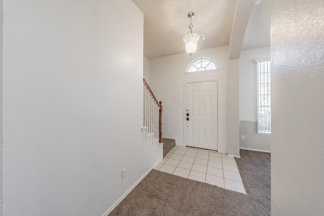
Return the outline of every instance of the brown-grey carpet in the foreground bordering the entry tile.
{"type": "Polygon", "coordinates": [[[240,156],[247,195],[152,170],[109,215],[270,215],[270,153],[240,156]]]}

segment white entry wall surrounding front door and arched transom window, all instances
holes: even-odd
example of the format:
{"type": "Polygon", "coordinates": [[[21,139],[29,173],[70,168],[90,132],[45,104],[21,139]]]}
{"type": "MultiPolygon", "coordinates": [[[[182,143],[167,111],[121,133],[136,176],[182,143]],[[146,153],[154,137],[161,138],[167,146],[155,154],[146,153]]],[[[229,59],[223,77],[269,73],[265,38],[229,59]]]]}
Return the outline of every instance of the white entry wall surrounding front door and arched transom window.
{"type": "Polygon", "coordinates": [[[184,145],[184,83],[190,81],[218,80],[218,150],[227,153],[228,110],[228,47],[197,51],[192,57],[178,54],[150,59],[150,87],[163,105],[163,136],[177,139],[184,145]],[[185,74],[191,61],[208,57],[215,61],[218,72],[185,74]],[[166,126],[169,128],[166,130],[166,126]]]}

